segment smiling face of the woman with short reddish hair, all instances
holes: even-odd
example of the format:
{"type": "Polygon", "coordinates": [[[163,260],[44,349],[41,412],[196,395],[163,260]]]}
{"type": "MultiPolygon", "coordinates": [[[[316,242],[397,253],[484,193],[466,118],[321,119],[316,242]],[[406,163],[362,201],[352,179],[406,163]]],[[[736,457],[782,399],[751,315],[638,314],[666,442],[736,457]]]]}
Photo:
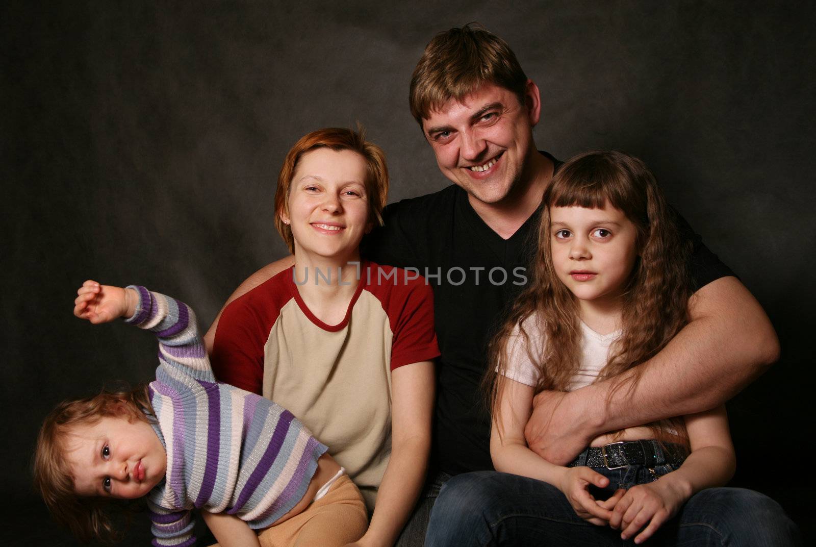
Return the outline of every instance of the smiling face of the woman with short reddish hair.
{"type": "Polygon", "coordinates": [[[371,229],[366,160],[352,150],[318,148],[300,157],[281,214],[295,239],[295,256],[357,260],[371,229]]]}

